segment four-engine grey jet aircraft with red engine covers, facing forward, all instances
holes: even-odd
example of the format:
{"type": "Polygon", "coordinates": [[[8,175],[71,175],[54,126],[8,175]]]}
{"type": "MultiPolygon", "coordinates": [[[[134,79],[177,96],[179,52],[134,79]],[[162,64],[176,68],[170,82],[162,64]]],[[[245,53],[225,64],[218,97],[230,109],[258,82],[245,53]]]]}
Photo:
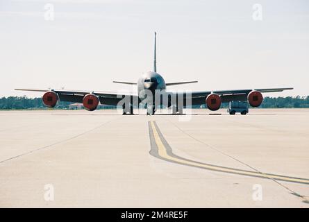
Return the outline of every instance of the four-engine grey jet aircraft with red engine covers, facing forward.
{"type": "Polygon", "coordinates": [[[133,114],[133,105],[144,104],[147,107],[147,114],[154,114],[160,105],[172,107],[172,113],[183,113],[183,107],[189,105],[206,104],[209,110],[219,110],[222,103],[230,101],[248,101],[252,107],[258,107],[263,100],[262,92],[282,92],[288,88],[271,88],[271,89],[232,89],[232,90],[214,90],[199,92],[169,92],[166,87],[169,85],[181,85],[187,83],[197,83],[197,81],[165,83],[164,78],[157,73],[156,67],[156,33],[154,39],[154,60],[153,71],[148,71],[137,80],[137,83],[113,81],[113,83],[122,83],[128,85],[137,85],[137,94],[119,94],[112,92],[91,92],[76,91],[65,89],[15,89],[22,91],[45,92],[42,96],[44,105],[49,108],[56,106],[58,101],[67,101],[83,103],[86,110],[96,110],[99,103],[104,105],[119,105],[125,98],[128,100],[122,103],[123,114],[133,114]],[[147,93],[145,93],[147,92],[147,93]],[[150,94],[149,94],[150,92],[150,94]],[[156,96],[156,94],[160,96],[156,96]],[[167,99],[162,99],[167,96],[167,99]],[[176,99],[171,99],[172,97],[176,99]],[[190,102],[188,99],[190,98],[190,102]],[[164,101],[167,101],[165,104],[164,101]],[[137,104],[136,104],[137,103],[137,104]]]}

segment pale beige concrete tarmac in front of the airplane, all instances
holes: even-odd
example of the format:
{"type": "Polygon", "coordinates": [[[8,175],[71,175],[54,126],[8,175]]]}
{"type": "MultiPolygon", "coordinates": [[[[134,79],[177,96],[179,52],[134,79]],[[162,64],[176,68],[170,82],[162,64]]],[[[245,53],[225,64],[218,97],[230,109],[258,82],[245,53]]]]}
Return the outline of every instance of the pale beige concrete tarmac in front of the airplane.
{"type": "Polygon", "coordinates": [[[308,109],[210,113],[1,111],[0,207],[309,207],[308,109]]]}

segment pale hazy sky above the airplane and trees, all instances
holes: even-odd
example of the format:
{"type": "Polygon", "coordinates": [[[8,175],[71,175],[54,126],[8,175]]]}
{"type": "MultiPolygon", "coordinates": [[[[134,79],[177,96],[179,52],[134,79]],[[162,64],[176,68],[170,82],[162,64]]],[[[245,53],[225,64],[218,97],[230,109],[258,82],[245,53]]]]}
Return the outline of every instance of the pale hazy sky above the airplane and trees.
{"type": "Polygon", "coordinates": [[[309,95],[308,0],[0,0],[0,96],[42,96],[15,87],[130,89],[112,80],[152,70],[153,31],[165,81],[199,80],[172,89],[309,95]]]}

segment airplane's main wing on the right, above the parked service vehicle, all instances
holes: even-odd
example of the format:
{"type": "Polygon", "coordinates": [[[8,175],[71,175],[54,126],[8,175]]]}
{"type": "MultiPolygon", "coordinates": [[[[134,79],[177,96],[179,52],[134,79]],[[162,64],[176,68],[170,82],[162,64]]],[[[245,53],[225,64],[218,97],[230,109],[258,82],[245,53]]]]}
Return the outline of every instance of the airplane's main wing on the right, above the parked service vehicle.
{"type": "MultiPolygon", "coordinates": [[[[288,88],[254,89],[254,90],[258,92],[283,92],[284,90],[290,90],[290,89],[293,88],[288,87],[288,88]]],[[[222,99],[222,103],[228,103],[230,101],[247,101],[247,96],[249,92],[251,92],[252,90],[253,89],[232,89],[232,90],[192,92],[192,105],[205,104],[206,97],[211,93],[218,94],[222,99]]]]}

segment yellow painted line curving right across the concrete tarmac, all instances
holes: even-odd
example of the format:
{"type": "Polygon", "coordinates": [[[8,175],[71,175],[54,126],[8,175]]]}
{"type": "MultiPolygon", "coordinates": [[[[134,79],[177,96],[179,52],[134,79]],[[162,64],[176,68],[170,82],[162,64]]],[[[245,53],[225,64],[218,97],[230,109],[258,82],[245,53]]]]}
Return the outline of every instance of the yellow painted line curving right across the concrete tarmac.
{"type": "Polygon", "coordinates": [[[275,179],[275,180],[285,180],[289,182],[301,182],[301,183],[306,183],[309,184],[308,179],[302,179],[302,178],[291,178],[288,176],[279,176],[279,175],[273,175],[269,173],[259,173],[259,172],[254,172],[254,171],[244,171],[241,169],[226,169],[225,167],[219,167],[219,166],[213,166],[210,164],[203,164],[203,163],[197,163],[197,162],[192,162],[190,160],[183,160],[177,157],[173,157],[167,153],[167,149],[165,148],[165,145],[163,144],[162,140],[160,139],[160,136],[158,134],[158,131],[156,129],[156,126],[153,121],[151,123],[151,128],[153,131],[153,137],[155,139],[156,145],[158,146],[158,155],[160,157],[163,157],[167,160],[172,160],[174,162],[178,162],[180,164],[186,164],[190,165],[192,167],[202,167],[204,169],[210,169],[213,171],[222,171],[226,173],[237,173],[237,174],[242,174],[245,176],[256,176],[260,178],[269,178],[269,179],[275,179]]]}

